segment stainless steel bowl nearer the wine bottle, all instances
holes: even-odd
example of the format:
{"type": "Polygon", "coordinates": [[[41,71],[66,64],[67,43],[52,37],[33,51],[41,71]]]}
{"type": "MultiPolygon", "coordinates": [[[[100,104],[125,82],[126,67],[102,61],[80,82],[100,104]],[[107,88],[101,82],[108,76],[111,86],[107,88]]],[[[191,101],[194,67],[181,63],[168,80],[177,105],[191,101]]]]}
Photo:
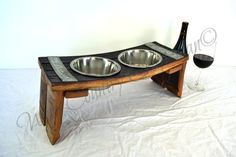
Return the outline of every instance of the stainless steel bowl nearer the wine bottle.
{"type": "Polygon", "coordinates": [[[152,50],[133,49],[120,53],[118,60],[129,67],[149,68],[161,63],[162,56],[152,50]]]}

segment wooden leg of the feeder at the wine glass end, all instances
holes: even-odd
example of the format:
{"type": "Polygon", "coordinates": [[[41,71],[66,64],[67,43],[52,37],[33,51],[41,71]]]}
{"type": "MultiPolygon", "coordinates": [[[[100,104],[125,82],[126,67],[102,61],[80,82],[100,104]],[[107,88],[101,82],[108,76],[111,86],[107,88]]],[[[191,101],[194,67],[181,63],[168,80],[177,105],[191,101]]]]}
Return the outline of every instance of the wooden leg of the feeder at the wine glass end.
{"type": "Polygon", "coordinates": [[[161,75],[155,75],[152,80],[162,87],[166,87],[170,92],[176,96],[181,97],[183,91],[184,72],[186,63],[170,69],[161,75]]]}

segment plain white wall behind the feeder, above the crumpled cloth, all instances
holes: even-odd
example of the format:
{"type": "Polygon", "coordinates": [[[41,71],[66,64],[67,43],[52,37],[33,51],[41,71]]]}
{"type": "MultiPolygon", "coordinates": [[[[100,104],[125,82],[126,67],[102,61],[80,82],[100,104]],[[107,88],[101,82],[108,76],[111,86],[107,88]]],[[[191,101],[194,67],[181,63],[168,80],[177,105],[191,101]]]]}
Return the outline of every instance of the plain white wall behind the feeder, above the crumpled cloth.
{"type": "Polygon", "coordinates": [[[101,53],[153,40],[173,47],[182,21],[190,23],[188,45],[212,27],[214,64],[236,65],[235,19],[233,0],[1,0],[0,68],[38,68],[39,56],[101,53]]]}

